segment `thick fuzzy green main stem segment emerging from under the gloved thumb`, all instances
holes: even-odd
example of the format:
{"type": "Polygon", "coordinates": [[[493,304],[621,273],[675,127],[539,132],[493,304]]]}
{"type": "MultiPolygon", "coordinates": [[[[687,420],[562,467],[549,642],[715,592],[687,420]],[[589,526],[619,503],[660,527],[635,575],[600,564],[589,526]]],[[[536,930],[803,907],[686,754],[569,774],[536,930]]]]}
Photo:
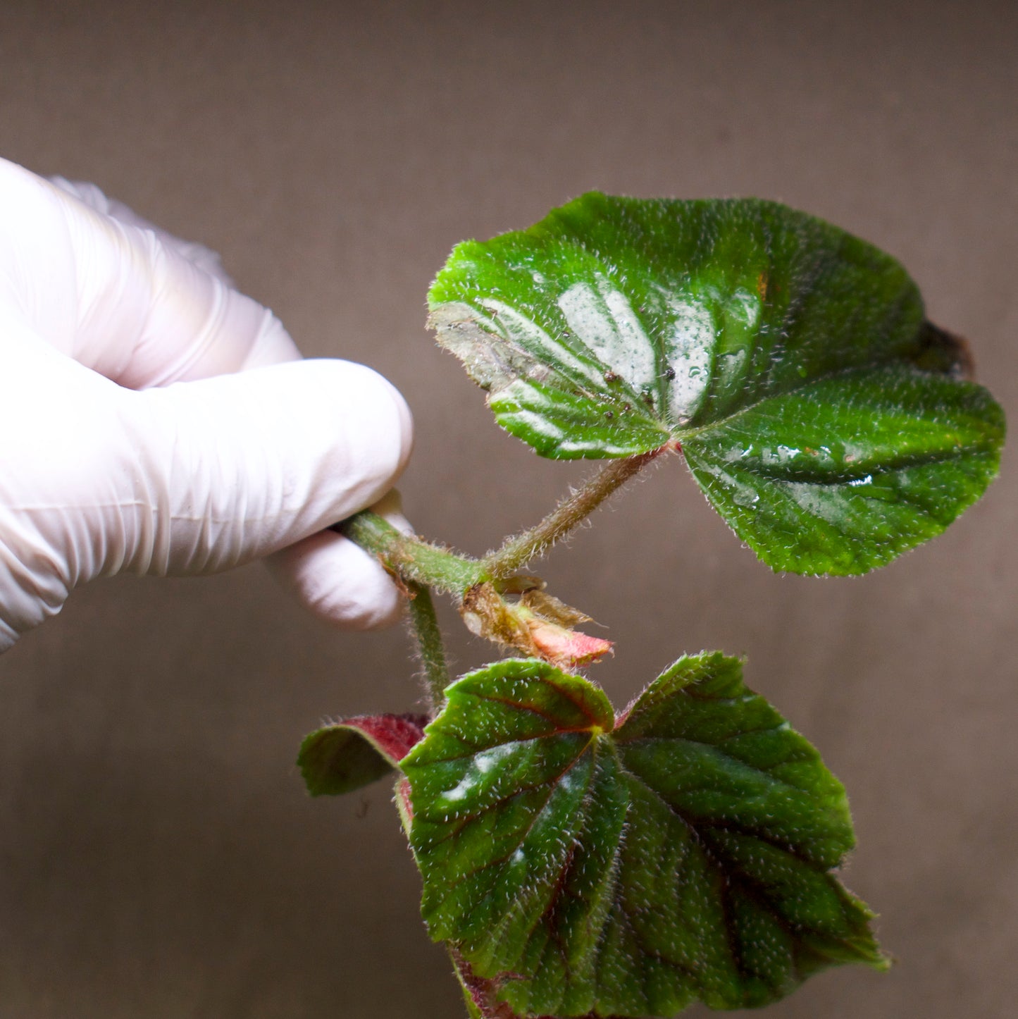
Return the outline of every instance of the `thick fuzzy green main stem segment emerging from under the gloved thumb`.
{"type": "Polygon", "coordinates": [[[406,581],[462,598],[468,588],[488,579],[478,559],[404,534],[369,509],[343,521],[339,530],[406,581]]]}

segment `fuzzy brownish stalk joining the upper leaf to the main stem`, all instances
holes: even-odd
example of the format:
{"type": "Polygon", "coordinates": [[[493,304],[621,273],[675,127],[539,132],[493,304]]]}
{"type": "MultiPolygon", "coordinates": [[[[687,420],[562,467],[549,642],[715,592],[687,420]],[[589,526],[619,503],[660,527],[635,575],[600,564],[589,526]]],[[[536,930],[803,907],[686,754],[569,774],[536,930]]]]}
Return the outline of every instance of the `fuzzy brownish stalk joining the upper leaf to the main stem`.
{"type": "Polygon", "coordinates": [[[586,484],[562,499],[536,527],[510,538],[481,560],[484,572],[494,579],[508,577],[531,559],[543,555],[556,541],[582,524],[609,495],[637,475],[672,444],[637,457],[611,460],[586,484]]]}

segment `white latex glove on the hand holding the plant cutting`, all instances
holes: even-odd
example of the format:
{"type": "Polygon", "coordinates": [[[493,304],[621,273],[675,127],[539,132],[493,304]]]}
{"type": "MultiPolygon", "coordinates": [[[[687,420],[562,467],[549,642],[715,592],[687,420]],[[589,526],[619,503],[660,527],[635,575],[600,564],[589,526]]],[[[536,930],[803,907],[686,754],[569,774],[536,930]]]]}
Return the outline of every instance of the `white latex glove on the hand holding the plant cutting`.
{"type": "Polygon", "coordinates": [[[323,529],[389,491],[411,432],[388,382],[301,361],[211,252],[0,160],[0,650],[93,578],[272,553],[318,614],[390,622],[395,586],[323,529]]]}

